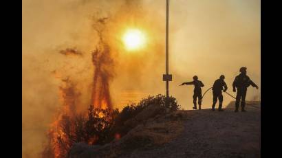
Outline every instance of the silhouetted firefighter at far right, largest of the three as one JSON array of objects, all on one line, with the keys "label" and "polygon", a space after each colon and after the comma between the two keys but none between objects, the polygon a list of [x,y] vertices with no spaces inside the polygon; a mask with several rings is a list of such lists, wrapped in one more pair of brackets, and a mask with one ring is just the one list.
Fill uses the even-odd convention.
[{"label": "silhouetted firefighter at far right, largest of the three", "polygon": [[246,104],[245,99],[246,99],[247,89],[250,85],[252,85],[252,87],[256,87],[257,89],[259,89],[257,84],[254,84],[254,82],[250,80],[249,76],[247,76],[246,67],[241,67],[240,72],[241,74],[236,76],[232,84],[234,92],[236,92],[235,87],[237,88],[235,112],[238,112],[240,100],[241,100],[241,111],[245,111],[245,104]]}]

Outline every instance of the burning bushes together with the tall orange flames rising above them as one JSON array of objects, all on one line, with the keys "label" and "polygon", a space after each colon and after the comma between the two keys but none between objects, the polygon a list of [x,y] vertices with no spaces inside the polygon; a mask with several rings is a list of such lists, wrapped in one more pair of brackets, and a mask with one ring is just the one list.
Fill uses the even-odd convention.
[{"label": "burning bushes together with the tall orange flames rising above them", "polygon": [[[58,74],[57,71],[54,71],[56,78],[61,79],[59,95],[62,106],[54,122],[50,125],[42,157],[67,157],[69,150],[78,142],[104,145],[113,139],[120,139],[137,124],[132,122],[132,118],[150,105],[159,107],[158,114],[165,113],[167,109],[175,111],[179,107],[175,98],[171,97],[169,105],[166,106],[164,95],[156,95],[143,99],[138,104],[125,106],[122,111],[113,109],[109,83],[114,77],[114,60],[111,45],[107,41],[106,25],[108,20],[108,18],[94,20],[94,30],[97,33],[98,42],[91,52],[94,73],[89,91],[91,97],[88,109],[78,112],[79,107],[83,106],[78,100],[80,90],[78,90],[77,84],[79,82],[75,82],[70,76],[63,78],[64,74]],[[59,53],[65,58],[84,56],[82,52],[74,48],[63,49]]]}]

